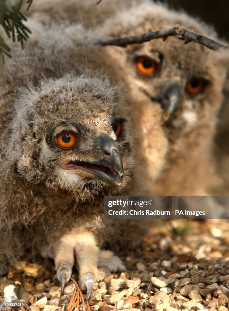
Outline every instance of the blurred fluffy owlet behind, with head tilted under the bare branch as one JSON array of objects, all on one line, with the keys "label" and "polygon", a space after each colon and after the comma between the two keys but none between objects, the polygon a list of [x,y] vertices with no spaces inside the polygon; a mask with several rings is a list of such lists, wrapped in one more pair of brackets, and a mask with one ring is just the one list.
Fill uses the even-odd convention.
[{"label": "blurred fluffy owlet behind, with head tilted under the bare branch", "polygon": [[[141,35],[179,24],[218,40],[197,19],[150,0],[103,0],[95,7],[72,0],[55,8],[41,1],[40,8],[34,2],[31,9],[40,16],[45,12],[44,22],[81,20],[91,26],[92,39]],[[74,25],[68,35],[74,38]],[[92,51],[89,67],[102,67],[112,80],[122,80],[130,96],[138,140],[134,175],[148,187],[141,194],[207,194],[216,181],[212,145],[227,71],[224,56],[194,42],[184,45],[177,37]]]}]

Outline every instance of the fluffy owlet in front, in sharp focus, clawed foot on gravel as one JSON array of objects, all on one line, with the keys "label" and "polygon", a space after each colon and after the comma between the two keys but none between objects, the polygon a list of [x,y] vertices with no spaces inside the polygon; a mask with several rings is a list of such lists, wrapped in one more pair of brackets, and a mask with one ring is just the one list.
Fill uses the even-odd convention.
[{"label": "fluffy owlet in front, in sharp focus, clawed foot on gravel", "polygon": [[118,86],[80,67],[83,44],[77,50],[57,27],[30,27],[25,49],[13,46],[0,68],[0,261],[42,250],[63,290],[75,255],[89,296],[99,264],[123,267],[99,247],[112,229],[103,195],[132,187],[129,104]]}]

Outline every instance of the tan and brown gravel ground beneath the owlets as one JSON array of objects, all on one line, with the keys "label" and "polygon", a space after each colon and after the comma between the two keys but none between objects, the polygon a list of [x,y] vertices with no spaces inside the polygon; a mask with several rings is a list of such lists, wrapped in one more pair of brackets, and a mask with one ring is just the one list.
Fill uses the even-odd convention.
[{"label": "tan and brown gravel ground beneath the owlets", "polygon": [[[156,220],[141,247],[122,257],[128,271],[114,274],[100,268],[100,280],[94,284],[89,308],[227,311],[228,245],[227,220]],[[73,278],[77,280],[76,271]],[[70,281],[60,298],[53,262],[36,258],[33,262],[18,262],[6,276],[0,277],[0,304],[4,290],[14,290],[13,294],[26,303],[26,308],[17,310],[64,311],[68,309],[74,284]]]}]

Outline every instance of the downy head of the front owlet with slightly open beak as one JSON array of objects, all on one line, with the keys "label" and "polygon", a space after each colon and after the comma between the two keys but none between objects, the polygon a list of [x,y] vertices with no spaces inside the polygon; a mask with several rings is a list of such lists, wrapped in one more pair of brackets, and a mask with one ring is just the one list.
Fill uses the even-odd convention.
[{"label": "downy head of the front owlet with slightly open beak", "polygon": [[22,182],[83,199],[126,185],[132,165],[128,104],[104,80],[66,75],[22,91],[8,152]]}]

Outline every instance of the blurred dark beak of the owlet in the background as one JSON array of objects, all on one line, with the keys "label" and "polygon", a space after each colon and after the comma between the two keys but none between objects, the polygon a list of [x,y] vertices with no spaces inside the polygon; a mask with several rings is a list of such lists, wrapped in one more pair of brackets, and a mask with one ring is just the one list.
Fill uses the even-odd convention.
[{"label": "blurred dark beak of the owlet in the background", "polygon": [[169,117],[174,113],[177,108],[177,103],[180,99],[180,86],[178,84],[170,85],[164,93],[161,101],[161,106],[165,110],[163,114],[164,121],[167,121]]}]

